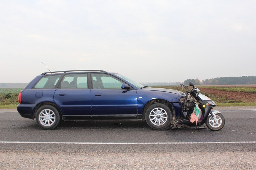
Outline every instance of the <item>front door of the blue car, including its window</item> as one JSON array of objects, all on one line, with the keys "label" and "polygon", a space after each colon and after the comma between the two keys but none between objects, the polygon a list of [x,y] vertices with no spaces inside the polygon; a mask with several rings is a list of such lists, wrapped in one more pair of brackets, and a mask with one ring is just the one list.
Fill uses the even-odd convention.
[{"label": "front door of the blue car, including its window", "polygon": [[137,92],[121,89],[125,82],[104,73],[91,73],[92,113],[94,116],[136,116]]}]

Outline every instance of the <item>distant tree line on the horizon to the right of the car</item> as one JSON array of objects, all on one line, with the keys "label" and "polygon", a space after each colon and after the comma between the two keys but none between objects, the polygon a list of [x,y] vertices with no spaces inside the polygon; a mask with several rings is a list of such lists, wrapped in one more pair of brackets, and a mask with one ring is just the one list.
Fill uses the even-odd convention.
[{"label": "distant tree line on the horizon to the right of the car", "polygon": [[199,79],[187,79],[184,81],[184,84],[188,85],[190,81],[193,82],[195,85],[256,84],[256,76],[216,77],[216,78],[206,79],[203,81],[200,81]]}]

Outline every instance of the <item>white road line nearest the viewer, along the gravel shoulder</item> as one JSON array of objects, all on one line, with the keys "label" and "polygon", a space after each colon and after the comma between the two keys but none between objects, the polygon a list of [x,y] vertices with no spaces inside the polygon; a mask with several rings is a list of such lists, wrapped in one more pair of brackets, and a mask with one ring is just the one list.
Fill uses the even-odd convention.
[{"label": "white road line nearest the viewer, along the gravel shoulder", "polygon": [[223,143],[256,143],[256,141],[241,142],[31,142],[31,141],[0,141],[0,143],[32,143],[32,144],[223,144]]}]

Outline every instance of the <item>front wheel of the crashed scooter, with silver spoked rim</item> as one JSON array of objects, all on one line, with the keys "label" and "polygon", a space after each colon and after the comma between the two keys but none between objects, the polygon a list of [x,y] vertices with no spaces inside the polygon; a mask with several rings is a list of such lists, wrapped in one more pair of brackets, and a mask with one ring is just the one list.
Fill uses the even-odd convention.
[{"label": "front wheel of the crashed scooter, with silver spoked rim", "polygon": [[210,116],[208,116],[205,124],[206,124],[207,128],[209,128],[213,131],[217,131],[224,127],[225,118],[222,114],[218,113],[218,114],[216,114],[216,121],[214,121],[214,118],[210,115]]}]

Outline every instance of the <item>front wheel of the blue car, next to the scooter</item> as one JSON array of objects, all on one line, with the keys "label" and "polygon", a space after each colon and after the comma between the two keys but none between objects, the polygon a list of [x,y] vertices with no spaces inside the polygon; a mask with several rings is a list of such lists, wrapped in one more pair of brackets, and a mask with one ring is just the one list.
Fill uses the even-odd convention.
[{"label": "front wheel of the blue car, next to the scooter", "polygon": [[[162,110],[160,114],[159,114],[160,112],[159,110],[160,111]],[[158,113],[155,114],[157,111]],[[164,114],[164,115],[161,116],[161,114]],[[168,106],[161,103],[156,103],[149,106],[148,109],[146,110],[145,120],[150,128],[153,128],[156,130],[167,130],[167,129],[170,129],[171,127],[172,113],[171,113],[171,110],[168,108]]]}]

